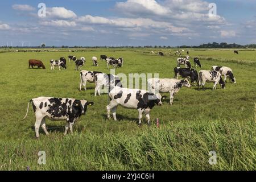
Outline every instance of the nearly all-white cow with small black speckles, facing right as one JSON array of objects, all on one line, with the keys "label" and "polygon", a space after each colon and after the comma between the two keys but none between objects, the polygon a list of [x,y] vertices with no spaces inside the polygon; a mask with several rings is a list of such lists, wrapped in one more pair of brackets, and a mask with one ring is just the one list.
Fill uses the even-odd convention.
[{"label": "nearly all-white cow with small black speckles, facing right", "polygon": [[191,87],[187,78],[184,80],[177,80],[175,78],[150,78],[147,80],[147,85],[150,93],[170,93],[170,105],[174,102],[174,94],[179,92],[183,86]]}]

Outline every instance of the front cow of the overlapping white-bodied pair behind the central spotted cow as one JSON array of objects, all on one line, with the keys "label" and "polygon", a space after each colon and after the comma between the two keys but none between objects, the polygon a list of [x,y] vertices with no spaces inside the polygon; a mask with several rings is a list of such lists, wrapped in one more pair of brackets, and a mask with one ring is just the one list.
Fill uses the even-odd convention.
[{"label": "front cow of the overlapping white-bodied pair behind the central spotted cow", "polygon": [[94,76],[96,81],[94,96],[97,96],[97,93],[99,96],[101,96],[100,89],[103,87],[109,88],[108,93],[110,92],[111,86],[119,86],[121,88],[123,87],[120,78],[116,75],[110,75],[106,73],[96,73]]}]

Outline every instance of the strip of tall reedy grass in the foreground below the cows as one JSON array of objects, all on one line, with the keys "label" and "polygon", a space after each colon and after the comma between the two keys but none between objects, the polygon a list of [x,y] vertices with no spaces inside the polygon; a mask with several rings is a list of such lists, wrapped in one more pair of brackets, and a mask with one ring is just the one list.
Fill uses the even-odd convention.
[{"label": "strip of tall reedy grass in the foreground below the cows", "polygon": [[[183,121],[126,133],[1,141],[0,170],[255,170],[254,118]],[[38,151],[46,151],[40,166]],[[209,151],[217,152],[210,165]]]}]

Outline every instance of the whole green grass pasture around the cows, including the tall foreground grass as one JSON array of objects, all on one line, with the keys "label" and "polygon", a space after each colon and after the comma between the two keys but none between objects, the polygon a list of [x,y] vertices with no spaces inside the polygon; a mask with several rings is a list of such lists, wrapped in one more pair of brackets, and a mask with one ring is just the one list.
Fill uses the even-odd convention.
[{"label": "whole green grass pasture around the cows, including the tall foreground grass", "polygon": [[[150,50],[151,51],[151,50]],[[83,69],[109,73],[104,61],[92,67],[92,56],[123,57],[117,73],[159,73],[174,77],[176,58],[160,57],[148,49],[91,49],[85,52],[0,53],[0,170],[255,170],[256,137],[256,51],[190,50],[191,60],[201,58],[202,69],[222,65],[233,69],[237,84],[228,81],[226,89],[198,91],[182,88],[174,105],[155,106],[151,126],[144,119],[138,127],[138,111],[117,109],[118,122],[106,119],[108,96],[94,97],[94,84],[79,92],[79,72],[73,63],[68,69],[51,71],[50,59],[86,57]],[[170,50],[163,50],[170,52]],[[174,51],[172,51],[174,52]],[[42,60],[47,69],[28,69],[28,59]],[[200,69],[197,69],[199,71]],[[168,96],[168,94],[163,94]],[[50,135],[40,130],[35,139],[35,115],[27,102],[39,96],[70,97],[93,101],[75,125],[75,133],[64,137],[65,122],[46,121]],[[159,118],[160,128],[155,126]],[[39,165],[38,152],[46,151],[46,165]],[[209,151],[217,152],[217,164],[210,165]]]}]

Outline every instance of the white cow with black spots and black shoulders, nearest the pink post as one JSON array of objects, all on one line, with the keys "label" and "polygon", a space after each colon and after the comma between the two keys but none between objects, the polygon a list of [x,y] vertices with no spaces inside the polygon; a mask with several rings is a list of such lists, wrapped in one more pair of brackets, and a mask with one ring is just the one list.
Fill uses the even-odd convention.
[{"label": "white cow with black spots and black shoulders, nearest the pink post", "polygon": [[121,105],[128,109],[137,109],[139,112],[139,125],[141,125],[142,114],[146,114],[147,123],[150,125],[150,110],[156,105],[162,105],[160,94],[148,93],[146,90],[127,89],[114,87],[109,92],[110,104],[106,106],[108,118],[112,110],[114,121],[117,121],[117,106]]}]

